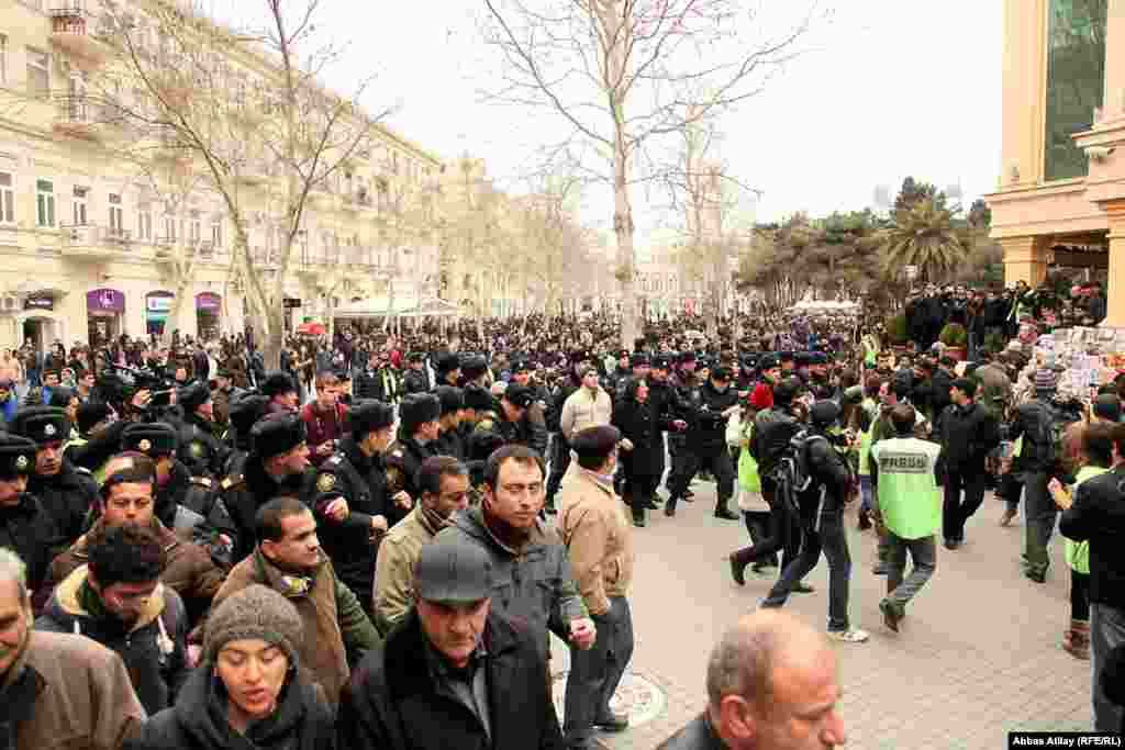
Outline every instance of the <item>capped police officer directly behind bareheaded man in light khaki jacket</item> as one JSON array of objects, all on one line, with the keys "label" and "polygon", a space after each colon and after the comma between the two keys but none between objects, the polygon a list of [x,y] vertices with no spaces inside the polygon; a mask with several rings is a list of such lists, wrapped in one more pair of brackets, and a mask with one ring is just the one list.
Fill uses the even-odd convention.
[{"label": "capped police officer directly behind bareheaded man in light khaki jacket", "polygon": [[398,435],[384,455],[387,464],[387,491],[392,497],[398,498],[395,506],[388,508],[390,525],[398,523],[410,512],[410,505],[402,501],[399,493],[405,493],[412,500],[421,497],[416,484],[417,472],[423,461],[438,455],[441,401],[433,394],[413,394],[403,399],[398,416]]}]

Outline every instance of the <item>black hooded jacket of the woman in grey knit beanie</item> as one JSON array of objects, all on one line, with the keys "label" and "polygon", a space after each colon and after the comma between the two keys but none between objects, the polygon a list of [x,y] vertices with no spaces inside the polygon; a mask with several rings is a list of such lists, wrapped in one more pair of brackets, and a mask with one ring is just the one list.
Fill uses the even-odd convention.
[{"label": "black hooded jacket of the woman in grey knit beanie", "polygon": [[150,719],[125,750],[334,750],[335,728],[324,692],[296,675],[281,689],[273,713],[240,734],[227,722],[226,690],[215,665],[205,662],[184,683],[176,706]]}]

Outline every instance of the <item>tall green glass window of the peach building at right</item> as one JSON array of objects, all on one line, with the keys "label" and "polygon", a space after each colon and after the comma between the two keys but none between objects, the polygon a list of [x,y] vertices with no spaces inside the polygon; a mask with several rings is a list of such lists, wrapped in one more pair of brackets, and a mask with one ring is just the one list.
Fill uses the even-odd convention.
[{"label": "tall green glass window of the peach building at right", "polygon": [[1086,154],[1071,137],[1089,130],[1106,85],[1107,0],[1051,0],[1047,21],[1044,178],[1087,174]]}]

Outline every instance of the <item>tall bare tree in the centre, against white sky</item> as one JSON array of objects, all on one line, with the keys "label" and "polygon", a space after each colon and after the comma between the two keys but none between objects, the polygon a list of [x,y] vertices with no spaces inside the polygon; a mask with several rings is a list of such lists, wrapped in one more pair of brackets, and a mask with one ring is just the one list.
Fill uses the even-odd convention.
[{"label": "tall bare tree in the centre, against white sky", "polygon": [[[613,188],[622,344],[638,333],[632,188],[659,172],[657,142],[763,90],[796,54],[813,11],[774,38],[749,38],[742,0],[485,0],[504,62],[496,101],[562,118],[592,178]],[[575,153],[572,151],[570,153]],[[592,159],[593,157],[593,159]]]}]

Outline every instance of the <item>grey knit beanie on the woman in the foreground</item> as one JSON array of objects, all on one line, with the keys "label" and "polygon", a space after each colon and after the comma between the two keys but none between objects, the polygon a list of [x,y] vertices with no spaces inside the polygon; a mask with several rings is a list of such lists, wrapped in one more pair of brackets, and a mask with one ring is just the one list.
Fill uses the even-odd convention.
[{"label": "grey knit beanie on the woman in the foreground", "polygon": [[284,596],[260,584],[248,586],[216,606],[207,618],[204,658],[215,663],[231,641],[260,639],[280,647],[297,667],[297,648],[304,639],[300,615]]}]

